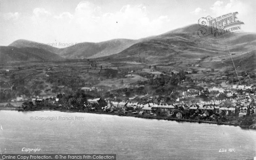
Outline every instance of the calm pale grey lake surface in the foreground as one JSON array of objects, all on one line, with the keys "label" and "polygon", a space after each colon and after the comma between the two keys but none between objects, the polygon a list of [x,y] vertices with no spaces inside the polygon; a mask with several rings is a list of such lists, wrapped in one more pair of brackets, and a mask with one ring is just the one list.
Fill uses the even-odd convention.
[{"label": "calm pale grey lake surface in the foreground", "polygon": [[[117,160],[247,160],[256,151],[256,131],[235,126],[59,111],[0,111],[0,125],[5,154],[26,154],[25,147]],[[229,148],[235,151],[219,152]]]}]

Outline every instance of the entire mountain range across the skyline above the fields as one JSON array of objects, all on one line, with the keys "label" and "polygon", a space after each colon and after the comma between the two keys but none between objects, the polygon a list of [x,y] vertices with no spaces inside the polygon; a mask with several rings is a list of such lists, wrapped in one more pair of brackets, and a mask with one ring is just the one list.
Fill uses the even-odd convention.
[{"label": "entire mountain range across the skyline above the fields", "polygon": [[[209,64],[215,66],[220,61],[227,63],[225,61],[229,61],[229,54],[250,58],[244,56],[244,53],[253,54],[256,50],[256,33],[234,32],[217,39],[212,35],[201,38],[198,36],[199,28],[201,27],[198,24],[192,24],[139,40],[84,42],[66,48],[40,46],[37,42],[17,40],[8,47],[1,47],[0,52],[9,61],[12,58],[14,61],[95,58],[102,61],[137,61],[180,68],[195,63],[201,63],[204,67],[210,67]],[[15,52],[10,47],[14,47],[11,49]],[[12,56],[17,53],[20,55]]]}]

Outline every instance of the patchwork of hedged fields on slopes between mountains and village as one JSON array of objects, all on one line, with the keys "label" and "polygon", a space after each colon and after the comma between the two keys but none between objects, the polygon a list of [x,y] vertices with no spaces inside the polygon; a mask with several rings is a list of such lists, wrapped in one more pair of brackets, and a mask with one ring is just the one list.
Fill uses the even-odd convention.
[{"label": "patchwork of hedged fields on slopes between mountains and village", "polygon": [[[254,53],[246,54],[244,59],[239,61],[240,56],[239,54],[233,57],[236,64],[242,63],[240,69],[238,67],[239,76],[243,72],[241,69],[246,65],[246,59],[255,61]],[[212,87],[223,81],[229,83],[230,79],[236,76],[230,56],[223,56],[222,61],[209,61],[208,58],[181,60],[172,59],[168,63],[157,64],[143,61],[106,61],[99,58],[2,65],[0,101],[10,101],[20,95],[47,97],[58,93],[73,93],[82,87],[97,87],[101,90],[99,94],[104,95],[111,90],[135,87],[138,82],[148,80],[148,75],[172,76],[173,72],[181,70],[194,81],[191,84],[184,83],[182,87]],[[146,92],[152,93],[154,90]]]}]

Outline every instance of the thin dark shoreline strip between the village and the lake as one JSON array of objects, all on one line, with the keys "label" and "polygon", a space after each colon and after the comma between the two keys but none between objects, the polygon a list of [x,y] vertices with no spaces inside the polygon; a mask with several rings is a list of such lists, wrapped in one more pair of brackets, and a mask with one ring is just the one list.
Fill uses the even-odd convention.
[{"label": "thin dark shoreline strip between the village and the lake", "polygon": [[[0,108],[0,111],[18,111],[18,112],[27,112],[21,111],[18,108]],[[28,110],[31,111],[31,110]],[[157,119],[157,120],[168,120],[168,121],[176,121],[176,122],[192,122],[192,123],[207,123],[207,124],[216,124],[216,125],[231,125],[231,126],[239,126],[242,129],[253,129],[249,128],[250,126],[241,126],[236,123],[230,122],[215,122],[215,121],[205,121],[205,120],[196,120],[196,119],[178,119],[173,117],[161,117],[161,116],[140,116],[137,114],[126,114],[120,115],[119,113],[105,113],[105,112],[87,112],[87,111],[79,111],[79,110],[51,110],[51,109],[41,109],[35,111],[60,111],[60,112],[70,112],[70,113],[92,113],[92,114],[107,114],[113,116],[130,116],[136,118],[143,118],[143,119]],[[254,130],[254,129],[253,129]]]}]

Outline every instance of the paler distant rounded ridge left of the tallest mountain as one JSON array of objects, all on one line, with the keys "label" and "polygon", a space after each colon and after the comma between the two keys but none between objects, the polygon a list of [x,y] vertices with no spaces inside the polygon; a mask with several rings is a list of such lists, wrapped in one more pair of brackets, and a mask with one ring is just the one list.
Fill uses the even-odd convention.
[{"label": "paler distant rounded ridge left of the tallest mountain", "polygon": [[137,42],[137,40],[130,39],[113,39],[99,43],[84,42],[66,48],[56,48],[42,43],[20,39],[14,41],[12,44],[9,44],[9,46],[17,48],[27,47],[44,49],[49,52],[58,54],[63,58],[81,59],[98,58],[102,56],[117,54]]}]

